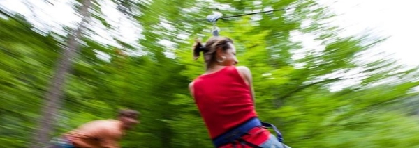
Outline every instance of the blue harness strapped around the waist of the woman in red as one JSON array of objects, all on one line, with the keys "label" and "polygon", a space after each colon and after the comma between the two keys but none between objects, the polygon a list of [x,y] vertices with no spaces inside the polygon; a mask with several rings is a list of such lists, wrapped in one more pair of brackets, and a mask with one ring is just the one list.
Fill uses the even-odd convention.
[{"label": "blue harness strapped around the waist of the woman in red", "polygon": [[265,126],[265,127],[274,129],[275,133],[277,133],[277,138],[279,142],[284,141],[284,138],[282,138],[282,134],[281,132],[279,132],[277,127],[275,127],[274,125],[270,123],[260,122],[258,117],[253,117],[250,120],[247,120],[247,122],[240,124],[240,126],[237,126],[234,129],[231,129],[230,131],[227,131],[226,133],[223,133],[217,136],[216,138],[212,140],[212,143],[214,143],[215,147],[220,147],[228,143],[239,141],[247,145],[251,145],[252,147],[258,147],[256,145],[252,145],[250,142],[246,142],[242,140],[241,138],[244,134],[247,134],[248,131],[250,131],[251,129],[257,126]]}]

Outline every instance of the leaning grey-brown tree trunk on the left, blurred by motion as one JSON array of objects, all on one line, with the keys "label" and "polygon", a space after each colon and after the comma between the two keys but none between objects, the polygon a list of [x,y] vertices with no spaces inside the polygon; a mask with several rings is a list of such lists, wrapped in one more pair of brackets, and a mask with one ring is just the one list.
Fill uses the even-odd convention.
[{"label": "leaning grey-brown tree trunk on the left, blurred by motion", "polygon": [[69,35],[67,47],[62,49],[61,58],[59,58],[57,67],[52,77],[50,88],[45,94],[45,103],[41,108],[41,118],[38,121],[38,129],[34,133],[34,142],[30,147],[42,148],[45,147],[50,141],[50,133],[53,131],[54,122],[56,122],[56,116],[61,107],[62,99],[64,94],[64,84],[66,82],[66,74],[72,68],[72,60],[80,52],[78,40],[82,37],[84,32],[84,26],[88,23],[90,13],[89,7],[91,6],[91,0],[84,0],[82,7],[80,8],[80,15],[82,16],[82,22],[78,25],[78,28]]}]

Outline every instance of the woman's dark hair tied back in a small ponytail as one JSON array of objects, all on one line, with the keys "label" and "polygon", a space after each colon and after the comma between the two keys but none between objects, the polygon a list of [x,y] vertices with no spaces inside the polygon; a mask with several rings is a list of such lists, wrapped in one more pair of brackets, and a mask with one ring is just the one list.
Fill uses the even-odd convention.
[{"label": "woman's dark hair tied back in a small ponytail", "polygon": [[207,40],[207,43],[203,44],[199,40],[195,40],[193,45],[193,59],[196,60],[200,56],[200,52],[203,52],[205,63],[207,68],[216,60],[216,49],[221,47],[223,51],[230,49],[229,42],[233,44],[233,40],[227,37],[215,36]]}]

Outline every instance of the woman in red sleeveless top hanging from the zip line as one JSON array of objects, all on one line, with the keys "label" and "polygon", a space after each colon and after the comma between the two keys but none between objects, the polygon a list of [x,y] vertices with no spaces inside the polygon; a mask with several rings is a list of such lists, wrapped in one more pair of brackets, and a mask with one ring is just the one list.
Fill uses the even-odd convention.
[{"label": "woman in red sleeveless top hanging from the zip line", "polygon": [[203,52],[207,70],[189,84],[216,147],[284,148],[258,120],[249,68],[235,67],[233,40],[212,37],[193,46],[194,59]]}]

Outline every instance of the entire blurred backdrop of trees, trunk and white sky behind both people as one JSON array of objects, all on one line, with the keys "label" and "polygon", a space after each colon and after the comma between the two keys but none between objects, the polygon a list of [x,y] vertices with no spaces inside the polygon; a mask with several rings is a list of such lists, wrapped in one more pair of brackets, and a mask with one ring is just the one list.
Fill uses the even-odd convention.
[{"label": "entire blurred backdrop of trees, trunk and white sky behind both people", "polygon": [[291,147],[419,147],[418,1],[0,0],[0,147],[142,113],[122,147],[213,147],[187,85],[207,15]]}]

